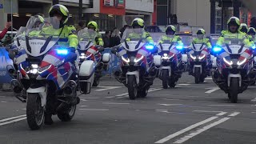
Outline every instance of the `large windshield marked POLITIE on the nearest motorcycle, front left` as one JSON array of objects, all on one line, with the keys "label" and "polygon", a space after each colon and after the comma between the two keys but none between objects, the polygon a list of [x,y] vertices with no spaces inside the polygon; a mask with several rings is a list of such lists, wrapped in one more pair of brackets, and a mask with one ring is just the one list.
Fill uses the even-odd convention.
[{"label": "large windshield marked POLITIE on the nearest motorcycle, front left", "polygon": [[59,28],[59,21],[55,17],[44,18],[43,21],[40,18],[31,17],[25,29],[16,38],[21,39],[20,46],[26,50],[26,54],[39,57],[58,43],[63,28]]}]

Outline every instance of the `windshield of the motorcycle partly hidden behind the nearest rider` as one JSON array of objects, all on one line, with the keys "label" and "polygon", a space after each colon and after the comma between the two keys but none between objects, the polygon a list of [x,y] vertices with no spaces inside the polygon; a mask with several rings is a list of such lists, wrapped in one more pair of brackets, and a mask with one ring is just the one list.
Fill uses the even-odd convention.
[{"label": "windshield of the motorcycle partly hidden behind the nearest rider", "polygon": [[90,29],[83,29],[78,32],[79,50],[88,50],[91,46],[94,46],[97,32]]}]

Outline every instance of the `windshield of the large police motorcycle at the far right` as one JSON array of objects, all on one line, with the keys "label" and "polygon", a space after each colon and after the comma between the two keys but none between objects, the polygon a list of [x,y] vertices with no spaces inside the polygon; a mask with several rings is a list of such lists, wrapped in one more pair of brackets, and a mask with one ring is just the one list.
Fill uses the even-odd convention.
[{"label": "windshield of the large police motorcycle at the far right", "polygon": [[242,54],[247,49],[244,40],[245,38],[225,38],[223,48],[229,54]]}]

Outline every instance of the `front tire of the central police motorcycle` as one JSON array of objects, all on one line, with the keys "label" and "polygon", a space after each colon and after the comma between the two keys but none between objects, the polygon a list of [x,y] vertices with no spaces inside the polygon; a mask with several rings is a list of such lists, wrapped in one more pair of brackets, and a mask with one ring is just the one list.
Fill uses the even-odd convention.
[{"label": "front tire of the central police motorcycle", "polygon": [[128,75],[128,94],[131,100],[134,100],[138,94],[137,82],[134,75]]}]

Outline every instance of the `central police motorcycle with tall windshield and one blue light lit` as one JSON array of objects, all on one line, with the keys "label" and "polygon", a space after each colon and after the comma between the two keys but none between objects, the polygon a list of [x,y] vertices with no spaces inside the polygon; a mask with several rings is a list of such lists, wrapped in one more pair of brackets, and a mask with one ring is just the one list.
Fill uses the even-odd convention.
[{"label": "central police motorcycle with tall windshield and one blue light lit", "polygon": [[[114,70],[114,76],[128,88],[130,99],[145,98],[157,73],[151,55],[155,47],[140,37],[143,32],[144,29],[127,28],[122,35],[120,46],[111,50],[118,56],[120,66]],[[130,35],[139,37],[130,38]]]}]

